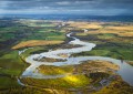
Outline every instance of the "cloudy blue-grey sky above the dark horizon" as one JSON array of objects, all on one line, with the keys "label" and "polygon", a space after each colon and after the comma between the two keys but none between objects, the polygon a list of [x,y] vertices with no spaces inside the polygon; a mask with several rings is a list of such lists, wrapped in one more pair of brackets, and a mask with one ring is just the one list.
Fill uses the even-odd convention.
[{"label": "cloudy blue-grey sky above the dark horizon", "polygon": [[0,14],[133,15],[133,0],[0,0]]}]

